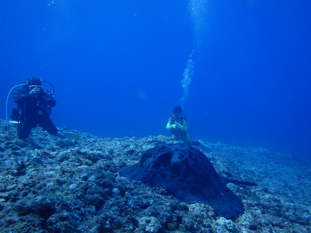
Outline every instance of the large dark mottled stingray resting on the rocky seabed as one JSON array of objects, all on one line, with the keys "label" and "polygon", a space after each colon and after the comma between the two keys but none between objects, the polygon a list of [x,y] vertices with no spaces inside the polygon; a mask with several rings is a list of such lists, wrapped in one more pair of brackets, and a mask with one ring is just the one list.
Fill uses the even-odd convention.
[{"label": "large dark mottled stingray resting on the rocky seabed", "polygon": [[216,214],[227,219],[244,213],[244,206],[225,183],[256,185],[218,175],[200,150],[183,143],[164,144],[143,151],[139,163],[123,167],[118,173],[150,187],[163,186],[181,202],[210,205]]}]

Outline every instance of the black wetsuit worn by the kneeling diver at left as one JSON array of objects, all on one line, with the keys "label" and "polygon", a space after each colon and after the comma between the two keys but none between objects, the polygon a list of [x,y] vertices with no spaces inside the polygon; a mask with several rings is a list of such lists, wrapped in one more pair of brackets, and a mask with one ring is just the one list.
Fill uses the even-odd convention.
[{"label": "black wetsuit worn by the kneeling diver at left", "polygon": [[[47,90],[41,90],[38,97],[30,96],[29,85],[15,91],[14,101],[17,103],[17,112],[19,113],[18,137],[26,139],[32,128],[37,125],[48,131],[52,135],[57,134],[57,128],[50,119],[51,107],[56,105],[52,94]],[[44,96],[49,96],[49,101]]]}]

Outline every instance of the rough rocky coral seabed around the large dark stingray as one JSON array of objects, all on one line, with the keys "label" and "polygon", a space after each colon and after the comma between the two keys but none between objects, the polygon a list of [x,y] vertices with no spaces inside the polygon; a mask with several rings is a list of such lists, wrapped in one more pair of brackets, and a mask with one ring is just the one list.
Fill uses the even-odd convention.
[{"label": "rough rocky coral seabed around the large dark stingray", "polygon": [[208,205],[118,177],[142,151],[176,143],[170,137],[81,133],[77,141],[34,129],[19,140],[14,126],[7,132],[0,120],[0,128],[0,232],[310,232],[311,166],[296,156],[203,140],[217,173],[258,184],[227,184],[245,208],[230,222]]}]

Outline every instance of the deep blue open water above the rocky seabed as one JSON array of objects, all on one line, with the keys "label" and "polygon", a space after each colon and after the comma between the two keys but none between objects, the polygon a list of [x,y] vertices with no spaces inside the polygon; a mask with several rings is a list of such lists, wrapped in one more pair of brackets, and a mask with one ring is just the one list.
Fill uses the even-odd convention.
[{"label": "deep blue open water above the rocky seabed", "polygon": [[[310,1],[1,1],[1,93],[37,76],[58,127],[170,135],[310,158]],[[9,98],[9,115],[14,102]],[[190,122],[188,122],[190,128]]]}]

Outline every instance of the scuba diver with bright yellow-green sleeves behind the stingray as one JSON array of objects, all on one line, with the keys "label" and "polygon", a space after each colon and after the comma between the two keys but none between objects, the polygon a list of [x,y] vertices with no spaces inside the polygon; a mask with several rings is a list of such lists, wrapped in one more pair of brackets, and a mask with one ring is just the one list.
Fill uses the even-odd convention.
[{"label": "scuba diver with bright yellow-green sleeves behind the stingray", "polygon": [[177,141],[182,139],[187,145],[190,145],[191,140],[187,132],[186,117],[182,115],[182,111],[183,109],[181,106],[173,109],[172,117],[167,124],[167,129],[171,130],[172,138]]}]

